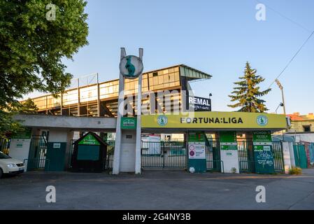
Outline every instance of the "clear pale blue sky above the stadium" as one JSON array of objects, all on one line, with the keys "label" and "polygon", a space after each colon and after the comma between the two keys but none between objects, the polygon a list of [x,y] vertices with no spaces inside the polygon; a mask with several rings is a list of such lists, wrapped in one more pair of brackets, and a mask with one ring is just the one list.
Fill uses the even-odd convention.
[{"label": "clear pale blue sky above the stadium", "polygon": [[[258,3],[266,5],[265,21],[255,18]],[[186,64],[210,73],[191,86],[196,96],[213,94],[213,111],[234,111],[228,94],[245,62],[265,78],[264,90],[314,30],[313,0],[89,0],[85,12],[90,44],[64,60],[74,78],[95,72],[100,81],[118,78],[120,48],[127,55],[143,48],[144,71]],[[287,113],[314,112],[313,59],[314,36],[279,78]],[[270,113],[282,102],[276,83],[271,87],[263,97]]]}]

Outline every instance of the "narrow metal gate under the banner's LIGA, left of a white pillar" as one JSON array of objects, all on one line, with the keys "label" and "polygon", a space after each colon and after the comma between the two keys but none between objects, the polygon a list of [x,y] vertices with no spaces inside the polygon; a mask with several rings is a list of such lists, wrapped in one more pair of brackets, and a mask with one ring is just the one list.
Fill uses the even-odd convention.
[{"label": "narrow metal gate under the banner's LIGA, left of a white pillar", "polygon": [[206,167],[209,171],[221,172],[223,164],[220,160],[219,141],[206,142]]}]

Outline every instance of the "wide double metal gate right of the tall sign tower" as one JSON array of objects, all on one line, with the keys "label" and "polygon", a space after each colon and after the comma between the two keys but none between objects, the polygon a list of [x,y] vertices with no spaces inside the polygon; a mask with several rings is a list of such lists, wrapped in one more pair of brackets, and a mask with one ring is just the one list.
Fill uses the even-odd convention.
[{"label": "wide double metal gate right of the tall sign tower", "polygon": [[187,167],[185,141],[142,141],[142,168]]}]

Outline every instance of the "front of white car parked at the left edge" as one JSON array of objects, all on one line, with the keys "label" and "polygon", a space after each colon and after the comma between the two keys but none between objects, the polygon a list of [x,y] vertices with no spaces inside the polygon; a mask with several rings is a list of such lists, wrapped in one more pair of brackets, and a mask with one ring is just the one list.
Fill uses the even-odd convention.
[{"label": "front of white car parked at the left edge", "polygon": [[0,151],[0,178],[3,174],[22,174],[24,169],[22,161],[10,158]]}]

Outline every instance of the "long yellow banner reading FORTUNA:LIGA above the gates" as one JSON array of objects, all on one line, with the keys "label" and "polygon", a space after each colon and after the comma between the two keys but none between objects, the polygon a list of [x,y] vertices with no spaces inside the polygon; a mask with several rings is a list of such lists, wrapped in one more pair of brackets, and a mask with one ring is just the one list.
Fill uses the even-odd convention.
[{"label": "long yellow banner reading FORTUNA:LIGA above the gates", "polygon": [[287,128],[284,115],[246,112],[194,112],[179,115],[141,116],[142,128],[280,129]]}]

